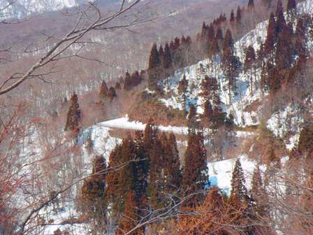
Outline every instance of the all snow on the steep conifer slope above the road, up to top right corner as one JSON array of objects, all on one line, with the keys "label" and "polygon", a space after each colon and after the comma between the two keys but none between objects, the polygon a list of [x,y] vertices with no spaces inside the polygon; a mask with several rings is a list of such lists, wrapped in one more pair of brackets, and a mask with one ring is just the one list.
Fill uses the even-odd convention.
[{"label": "all snow on the steep conifer slope above the road, up to top right corner", "polygon": [[[299,13],[312,13],[312,6],[313,1],[311,0],[299,3]],[[252,29],[252,31],[249,31],[245,36],[240,38],[240,40],[235,42],[235,55],[239,57],[242,64],[245,62],[245,49],[248,48],[249,45],[252,45],[254,50],[257,51],[259,50],[261,44],[265,42],[267,27],[268,20],[261,22],[256,25],[255,29]],[[312,41],[307,41],[307,49],[309,52],[312,52],[312,43]],[[249,77],[243,69],[241,69],[241,72],[236,78],[237,89],[231,100],[228,97],[228,84],[221,69],[221,58],[219,56],[203,59],[203,61],[198,62],[197,64],[187,66],[183,69],[178,69],[175,71],[173,76],[168,78],[169,87],[166,87],[167,81],[163,84],[166,87],[164,89],[166,96],[161,98],[160,101],[162,101],[166,106],[182,110],[182,102],[180,101],[177,87],[179,81],[184,75],[189,82],[187,90],[187,106],[194,104],[197,106],[198,113],[203,113],[203,99],[200,95],[201,82],[205,76],[212,76],[218,80],[219,96],[223,103],[224,111],[228,113],[228,115],[232,114],[234,116],[235,124],[240,126],[259,124],[259,117],[261,116],[259,115],[259,112],[262,107],[254,106],[254,104],[265,99],[266,94],[263,96],[258,85],[252,87],[252,90],[249,89]],[[255,76],[256,80],[260,80],[260,68],[256,69]],[[252,106],[254,106],[254,108],[252,108]]]}]

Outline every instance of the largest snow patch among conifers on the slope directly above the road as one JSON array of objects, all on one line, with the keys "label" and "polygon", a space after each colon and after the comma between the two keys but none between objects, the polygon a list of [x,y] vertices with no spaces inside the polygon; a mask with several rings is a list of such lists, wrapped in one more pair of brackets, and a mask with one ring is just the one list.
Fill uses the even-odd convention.
[{"label": "largest snow patch among conifers on the slope directly above the road", "polygon": [[[238,52],[239,53],[239,52]],[[256,101],[261,98],[261,91],[255,90],[253,94],[249,93],[248,90],[248,79],[245,73],[240,73],[238,77],[238,90],[237,95],[233,97],[232,101],[229,101],[228,93],[226,90],[226,80],[224,74],[221,71],[219,64],[220,58],[216,57],[215,61],[212,59],[204,59],[197,64],[191,65],[179,71],[175,71],[175,75],[169,78],[170,80],[170,89],[166,90],[166,93],[171,92],[174,96],[168,99],[160,99],[166,106],[172,106],[173,108],[180,108],[182,110],[180,98],[178,95],[177,85],[182,78],[186,76],[186,79],[189,81],[188,88],[188,104],[194,104],[197,106],[198,113],[203,113],[203,99],[201,99],[201,82],[205,75],[214,76],[218,78],[220,99],[224,104],[224,111],[229,114],[233,114],[235,118],[235,123],[239,125],[253,125],[258,124],[258,114],[256,111],[246,112],[245,108],[252,104],[253,101]],[[212,64],[216,64],[212,66]],[[261,71],[257,71],[257,76],[260,76]],[[190,87],[197,87],[196,89],[191,90]],[[187,105],[188,105],[187,104]]]}]

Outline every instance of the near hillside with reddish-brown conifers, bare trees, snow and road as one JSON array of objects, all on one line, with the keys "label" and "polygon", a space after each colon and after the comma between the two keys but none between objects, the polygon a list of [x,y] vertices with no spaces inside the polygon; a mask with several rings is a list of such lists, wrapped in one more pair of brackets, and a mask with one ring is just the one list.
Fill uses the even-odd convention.
[{"label": "near hillside with reddish-brown conifers, bare trees, snow and road", "polygon": [[1,235],[313,234],[313,1],[208,19],[46,113],[6,94]]}]

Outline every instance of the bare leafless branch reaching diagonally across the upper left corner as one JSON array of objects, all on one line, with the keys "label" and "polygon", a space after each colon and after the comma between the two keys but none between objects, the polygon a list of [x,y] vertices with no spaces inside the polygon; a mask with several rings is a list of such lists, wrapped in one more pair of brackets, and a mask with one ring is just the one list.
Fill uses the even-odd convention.
[{"label": "bare leafless branch reaching diagonally across the upper left corner", "polygon": [[[41,55],[40,59],[34,62],[26,71],[14,71],[10,73],[7,78],[1,78],[2,84],[0,85],[0,94],[6,94],[15,89],[25,80],[38,78],[47,82],[45,76],[50,73],[56,73],[58,62],[63,59],[71,57],[78,57],[80,59],[94,60],[101,62],[96,58],[88,58],[82,55],[82,50],[85,45],[94,43],[89,41],[86,36],[92,31],[111,31],[114,29],[128,29],[152,20],[149,15],[143,14],[143,8],[136,8],[140,0],[128,3],[123,0],[116,11],[104,14],[94,2],[89,2],[82,6],[77,12],[68,14],[68,17],[76,19],[73,28],[68,31],[63,37],[59,38],[54,35],[44,34],[45,44],[42,46],[33,45],[24,46],[23,48],[16,49],[14,46],[0,50],[3,54],[14,53],[38,53]],[[3,8],[6,10],[12,4]],[[3,22],[4,23],[4,22]]]}]

